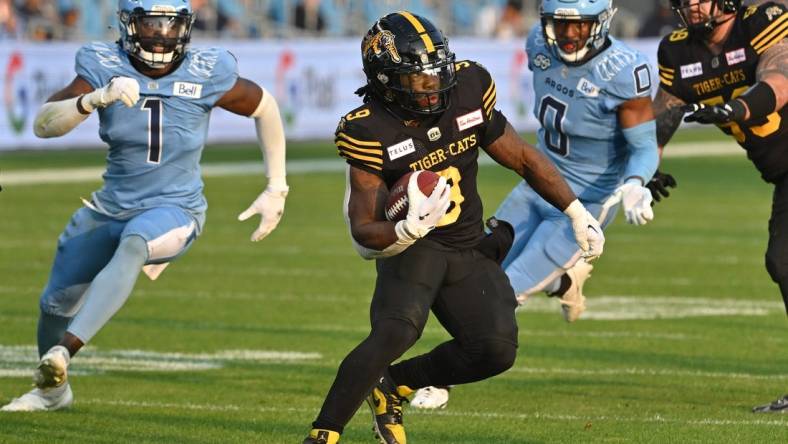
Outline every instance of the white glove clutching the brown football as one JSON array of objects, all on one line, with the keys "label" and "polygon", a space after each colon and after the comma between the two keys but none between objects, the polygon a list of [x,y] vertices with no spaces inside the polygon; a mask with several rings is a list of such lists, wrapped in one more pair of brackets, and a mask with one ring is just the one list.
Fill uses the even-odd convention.
[{"label": "white glove clutching the brown football", "polygon": [[432,231],[451,204],[451,184],[445,177],[438,179],[432,194],[426,197],[419,189],[419,174],[412,174],[408,180],[408,215],[394,226],[398,238],[413,242]]}]

